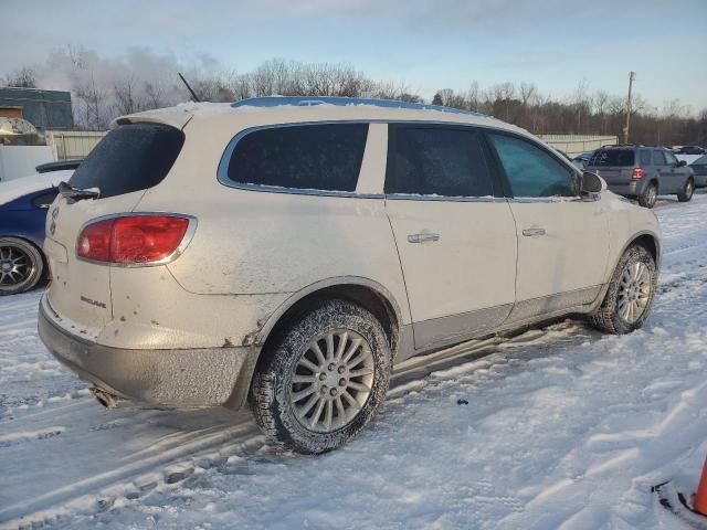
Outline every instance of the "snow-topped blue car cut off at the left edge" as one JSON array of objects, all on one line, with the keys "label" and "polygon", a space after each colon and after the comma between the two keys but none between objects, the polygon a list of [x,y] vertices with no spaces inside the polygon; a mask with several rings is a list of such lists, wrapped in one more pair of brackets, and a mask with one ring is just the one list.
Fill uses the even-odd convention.
[{"label": "snow-topped blue car cut off at the left edge", "polygon": [[42,252],[46,212],[78,163],[43,165],[40,174],[0,182],[0,296],[30,290],[49,276]]}]

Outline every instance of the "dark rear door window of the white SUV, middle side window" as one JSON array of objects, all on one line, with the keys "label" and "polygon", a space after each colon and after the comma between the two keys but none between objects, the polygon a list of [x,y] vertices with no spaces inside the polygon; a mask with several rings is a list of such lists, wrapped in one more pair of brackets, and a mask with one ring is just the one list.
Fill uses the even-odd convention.
[{"label": "dark rear door window of the white SUV, middle side window", "polygon": [[493,195],[481,135],[475,130],[389,126],[386,193]]}]

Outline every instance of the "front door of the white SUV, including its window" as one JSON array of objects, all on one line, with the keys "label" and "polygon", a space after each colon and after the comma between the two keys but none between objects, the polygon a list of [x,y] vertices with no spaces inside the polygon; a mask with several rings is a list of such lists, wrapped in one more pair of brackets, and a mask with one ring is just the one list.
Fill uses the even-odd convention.
[{"label": "front door of the white SUV, including its window", "polygon": [[516,304],[523,321],[593,301],[606,278],[609,223],[602,200],[578,194],[578,173],[541,144],[488,132],[516,222]]}]

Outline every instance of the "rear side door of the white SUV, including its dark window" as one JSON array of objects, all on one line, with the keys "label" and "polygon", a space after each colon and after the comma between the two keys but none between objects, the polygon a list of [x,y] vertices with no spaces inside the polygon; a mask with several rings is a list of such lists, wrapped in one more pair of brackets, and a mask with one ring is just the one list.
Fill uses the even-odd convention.
[{"label": "rear side door of the white SUV, including its dark window", "polygon": [[494,197],[489,151],[463,126],[389,126],[386,210],[415,349],[499,326],[515,301],[516,229]]}]

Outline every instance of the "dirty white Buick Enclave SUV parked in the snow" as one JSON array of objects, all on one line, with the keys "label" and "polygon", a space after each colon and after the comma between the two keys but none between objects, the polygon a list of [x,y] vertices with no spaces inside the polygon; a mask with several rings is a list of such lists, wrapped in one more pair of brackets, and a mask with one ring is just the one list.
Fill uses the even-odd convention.
[{"label": "dirty white Buick Enclave SUV parked in the snow", "polygon": [[48,215],[39,330],[104,404],[233,409],[335,448],[391,367],[567,314],[642,326],[661,240],[525,130],[266,97],[119,118]]}]

